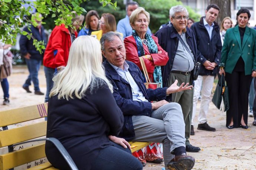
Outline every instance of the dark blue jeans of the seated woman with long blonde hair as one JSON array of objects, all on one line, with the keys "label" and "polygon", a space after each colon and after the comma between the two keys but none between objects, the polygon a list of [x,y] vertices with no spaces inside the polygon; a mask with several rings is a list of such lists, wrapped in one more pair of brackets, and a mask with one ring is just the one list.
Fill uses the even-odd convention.
[{"label": "dark blue jeans of the seated woman with long blonde hair", "polygon": [[131,150],[112,142],[115,146],[102,149],[92,164],[92,170],[142,170],[141,162]]}]

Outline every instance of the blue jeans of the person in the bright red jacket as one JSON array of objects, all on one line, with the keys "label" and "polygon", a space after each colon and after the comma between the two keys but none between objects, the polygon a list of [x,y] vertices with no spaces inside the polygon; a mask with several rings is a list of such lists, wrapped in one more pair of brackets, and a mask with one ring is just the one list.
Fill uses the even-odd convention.
[{"label": "blue jeans of the person in the bright red jacket", "polygon": [[48,102],[49,100],[49,94],[53,87],[53,81],[52,78],[55,74],[54,68],[44,67],[45,70],[45,78],[46,78],[46,95],[45,95],[45,102]]}]

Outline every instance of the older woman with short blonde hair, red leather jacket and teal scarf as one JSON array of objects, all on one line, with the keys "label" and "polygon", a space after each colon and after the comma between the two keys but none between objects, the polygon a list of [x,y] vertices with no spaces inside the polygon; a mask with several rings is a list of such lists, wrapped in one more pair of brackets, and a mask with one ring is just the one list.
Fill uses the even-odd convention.
[{"label": "older woman with short blonde hair, red leather jacket and teal scarf", "polygon": [[[167,63],[167,52],[158,44],[158,38],[147,34],[150,14],[139,7],[129,17],[132,35],[124,39],[126,59],[134,62],[142,70],[139,57],[142,57],[151,82],[162,83],[161,67]],[[144,75],[144,74],[142,74]],[[144,150],[144,153],[143,153]],[[145,149],[132,153],[143,166],[145,162],[163,162],[163,148],[160,143],[152,143]]]}]

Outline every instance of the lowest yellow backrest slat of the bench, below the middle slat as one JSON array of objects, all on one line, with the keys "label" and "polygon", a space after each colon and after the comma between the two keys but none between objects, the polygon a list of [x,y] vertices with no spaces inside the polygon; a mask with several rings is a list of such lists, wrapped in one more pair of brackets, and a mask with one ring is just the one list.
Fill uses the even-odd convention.
[{"label": "lowest yellow backrest slat of the bench, below the middle slat", "polygon": [[2,154],[0,155],[0,170],[20,166],[43,157],[46,157],[45,143]]}]

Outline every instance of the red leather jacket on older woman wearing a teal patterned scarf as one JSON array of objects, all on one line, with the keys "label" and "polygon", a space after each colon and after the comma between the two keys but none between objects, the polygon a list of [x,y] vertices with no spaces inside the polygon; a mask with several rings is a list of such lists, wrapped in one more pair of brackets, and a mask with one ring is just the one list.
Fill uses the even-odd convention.
[{"label": "red leather jacket on older woman wearing a teal patterned scarf", "polygon": [[[163,48],[158,44],[158,38],[155,36],[152,36],[152,38],[155,41],[155,44],[157,44],[158,51],[162,51],[162,53],[150,54],[148,47],[143,44],[145,55],[149,54],[153,58],[153,61],[143,58],[148,71],[148,76],[150,77],[151,81],[153,80],[153,72],[154,72],[155,66],[164,66],[169,60],[168,53],[164,51]],[[126,59],[128,61],[134,62],[136,65],[138,65],[138,67],[142,71],[140,59],[138,56],[137,45],[134,37],[132,35],[126,37],[124,39],[124,45],[126,50]]]}]

